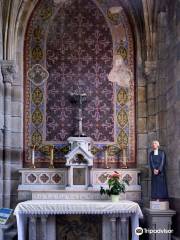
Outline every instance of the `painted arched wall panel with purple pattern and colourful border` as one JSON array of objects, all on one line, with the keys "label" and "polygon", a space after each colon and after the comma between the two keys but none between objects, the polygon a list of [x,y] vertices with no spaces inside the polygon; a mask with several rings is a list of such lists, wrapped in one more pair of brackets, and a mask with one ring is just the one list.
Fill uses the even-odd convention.
[{"label": "painted arched wall panel with purple pattern and colourful border", "polygon": [[[79,6],[78,11],[75,7],[77,4]],[[95,164],[98,166],[103,164],[104,155],[101,149],[104,145],[108,145],[110,146],[109,162],[111,166],[120,166],[122,161],[119,157],[117,146],[127,146],[128,164],[129,166],[135,165],[135,51],[132,30],[123,9],[120,9],[118,13],[112,13],[110,11],[114,6],[116,6],[117,9],[121,7],[120,3],[117,5],[117,2],[113,3],[113,1],[111,1],[111,3],[105,4],[104,1],[96,2],[89,0],[87,4],[89,5],[88,8],[86,8],[85,5],[82,7],[82,5],[83,1],[80,0],[65,1],[64,3],[63,1],[55,0],[39,1],[29,19],[24,44],[25,166],[28,166],[31,162],[29,151],[31,144],[39,146],[37,153],[39,166],[45,167],[48,163],[47,154],[50,144],[54,144],[56,147],[55,162],[57,166],[64,163],[63,154],[66,151],[65,140],[70,135],[68,131],[71,129],[71,125],[68,126],[68,129],[63,125],[62,111],[59,112],[58,104],[64,103],[64,105],[61,106],[65,109],[63,116],[67,115],[67,110],[69,110],[70,114],[72,114],[70,115],[71,118],[74,117],[66,90],[68,86],[71,88],[74,84],[73,80],[78,74],[79,77],[76,78],[76,83],[79,82],[80,85],[83,85],[87,94],[90,92],[89,102],[86,104],[84,111],[84,128],[95,140]],[[83,13],[82,9],[83,11],[86,9],[87,14]],[[88,12],[88,9],[91,9],[91,12]],[[69,14],[69,12],[71,12],[71,14]],[[63,34],[67,35],[65,32],[67,25],[65,25],[64,22],[67,21],[68,24],[68,14],[69,18],[73,16],[74,19],[77,19],[77,21],[71,22],[69,34],[76,35],[77,33],[80,34],[80,32],[83,33],[82,29],[85,31],[85,35],[82,36],[84,42],[81,40],[80,45],[84,43],[86,47],[83,48],[81,46],[79,49],[78,45],[74,46],[74,52],[71,48],[73,44],[75,44],[73,42],[74,38],[70,36],[67,38],[69,45],[64,44],[61,48],[63,41],[61,34],[63,32]],[[86,16],[86,22],[83,22],[84,20],[81,19],[82,16]],[[91,19],[88,21],[89,16]],[[92,26],[90,27],[92,20],[97,21],[95,22],[95,29]],[[76,25],[77,31],[75,31],[75,27],[72,27],[73,24]],[[85,28],[86,25],[89,26]],[[81,31],[78,30],[80,26]],[[86,38],[89,29],[91,29],[89,32],[90,41]],[[96,32],[102,33],[101,31],[104,31],[107,36],[104,41],[104,46],[100,47],[100,42],[102,43],[103,39],[100,39],[101,41],[96,39],[95,41],[95,37],[97,37]],[[92,35],[94,36],[93,38]],[[56,37],[59,41],[56,41]],[[76,37],[80,39],[77,35],[75,39]],[[100,35],[100,37],[105,36]],[[89,43],[89,50],[84,51],[80,56],[78,55],[79,53],[76,55],[77,49],[81,52],[87,48]],[[68,58],[62,59],[62,53],[66,50],[64,49],[65,46],[68,49],[67,51],[69,51],[69,55]],[[93,50],[95,51],[94,55],[92,54]],[[59,53],[56,55],[58,51]],[[100,54],[98,53],[98,55],[96,51],[99,51]],[[117,54],[120,54],[124,58],[125,63],[133,73],[133,79],[130,82],[129,89],[108,81],[107,74],[112,68],[113,57]],[[71,61],[70,56],[71,59],[76,56],[74,63]],[[78,62],[77,56],[82,61]],[[103,56],[103,58],[100,59],[100,56]],[[68,60],[71,62],[70,65],[67,64]],[[63,64],[66,66],[62,70]],[[69,66],[70,70],[67,70]],[[85,69],[83,69],[84,67]],[[100,71],[98,70],[99,68],[101,68]],[[83,72],[81,71],[82,69]],[[64,76],[66,72],[68,72],[67,78]],[[96,81],[93,82],[94,78]],[[63,79],[69,79],[69,84],[67,84],[64,90],[62,85],[66,84],[66,81],[63,81]],[[102,85],[101,89],[98,89],[97,94],[93,95],[98,82]],[[74,84],[74,88],[76,87],[77,84]],[[89,89],[90,91],[88,92]],[[100,92],[101,95],[99,96],[98,93]],[[61,101],[58,100],[56,93],[61,93]],[[53,98],[54,101],[52,101]],[[64,101],[62,101],[63,98]],[[96,99],[98,100],[96,101]],[[100,102],[98,107],[97,102]],[[103,107],[104,115],[100,113]],[[89,114],[89,109],[92,109],[91,114]],[[107,112],[108,114],[106,114]],[[97,117],[94,117],[98,114],[101,120],[99,122],[97,121]],[[58,121],[58,118],[61,118],[61,122]],[[64,124],[68,122],[71,123],[69,116],[68,119],[64,119],[63,121]],[[52,132],[54,132],[54,134],[52,134]]]}]

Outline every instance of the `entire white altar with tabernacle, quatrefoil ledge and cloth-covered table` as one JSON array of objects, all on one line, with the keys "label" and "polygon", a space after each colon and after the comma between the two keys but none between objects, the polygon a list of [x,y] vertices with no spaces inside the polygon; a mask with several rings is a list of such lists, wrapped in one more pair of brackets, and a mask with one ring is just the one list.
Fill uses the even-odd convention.
[{"label": "entire white altar with tabernacle, quatrefoil ledge and cloth-covered table", "polygon": [[[54,168],[51,154],[49,168],[20,170],[18,197],[22,202],[15,209],[18,240],[26,240],[27,235],[29,240],[139,239],[135,229],[142,217],[138,205],[140,171],[110,168],[106,154],[105,166],[96,168],[91,138],[70,137],[68,142],[70,150],[65,155],[63,168]],[[32,152],[34,154],[34,150]],[[112,203],[108,195],[100,194],[101,187],[108,188],[108,179],[114,172],[128,182],[117,203]]]}]

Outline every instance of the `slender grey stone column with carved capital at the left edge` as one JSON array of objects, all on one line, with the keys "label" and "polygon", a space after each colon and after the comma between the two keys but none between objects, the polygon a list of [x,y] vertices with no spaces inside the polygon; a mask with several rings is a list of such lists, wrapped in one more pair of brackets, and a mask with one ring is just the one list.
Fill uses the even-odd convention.
[{"label": "slender grey stone column with carved capital at the left edge", "polygon": [[11,171],[6,163],[11,162],[11,90],[12,82],[15,78],[15,64],[14,61],[2,61],[1,71],[4,83],[4,128],[3,128],[3,206],[10,207]]}]

